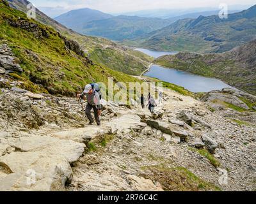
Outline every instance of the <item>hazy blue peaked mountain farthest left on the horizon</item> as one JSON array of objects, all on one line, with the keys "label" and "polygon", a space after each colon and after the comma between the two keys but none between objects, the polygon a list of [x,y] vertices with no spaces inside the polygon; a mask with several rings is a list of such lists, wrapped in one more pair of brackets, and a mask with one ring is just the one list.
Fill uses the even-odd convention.
[{"label": "hazy blue peaked mountain farthest left on the horizon", "polygon": [[91,22],[93,20],[103,20],[111,17],[112,15],[109,15],[108,13],[91,10],[90,8],[82,8],[63,13],[62,15],[56,17],[55,20],[69,27],[70,29],[73,29],[74,31],[79,31],[79,28],[83,27],[87,22]]}]

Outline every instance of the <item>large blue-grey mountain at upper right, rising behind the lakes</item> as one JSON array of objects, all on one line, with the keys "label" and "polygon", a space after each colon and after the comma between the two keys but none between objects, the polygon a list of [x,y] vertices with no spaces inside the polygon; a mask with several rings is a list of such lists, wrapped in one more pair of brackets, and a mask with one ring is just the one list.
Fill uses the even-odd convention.
[{"label": "large blue-grey mountain at upper right, rising behind the lakes", "polygon": [[229,14],[227,19],[212,15],[179,20],[135,40],[135,43],[153,50],[225,52],[255,38],[256,5]]}]

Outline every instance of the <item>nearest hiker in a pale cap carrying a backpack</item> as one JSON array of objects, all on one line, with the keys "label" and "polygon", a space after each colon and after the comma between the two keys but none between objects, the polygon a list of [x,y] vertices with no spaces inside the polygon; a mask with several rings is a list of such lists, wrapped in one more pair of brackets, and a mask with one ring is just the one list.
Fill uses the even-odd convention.
[{"label": "nearest hiker in a pale cap carrying a backpack", "polygon": [[100,103],[100,94],[99,92],[95,91],[94,88],[95,88],[95,84],[94,86],[92,86],[91,84],[86,85],[86,87],[84,88],[83,94],[77,94],[77,98],[84,99],[84,100],[87,99],[85,114],[88,120],[90,121],[89,125],[93,124],[93,118],[91,114],[91,110],[93,109],[97,126],[100,126],[100,115],[101,115],[102,106]]}]

